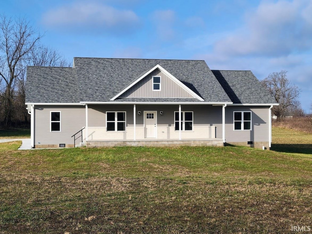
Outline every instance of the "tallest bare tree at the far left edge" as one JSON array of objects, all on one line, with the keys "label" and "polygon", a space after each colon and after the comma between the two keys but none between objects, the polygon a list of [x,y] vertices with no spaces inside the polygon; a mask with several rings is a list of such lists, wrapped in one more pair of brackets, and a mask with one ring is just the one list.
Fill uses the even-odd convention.
[{"label": "tallest bare tree at the far left edge", "polygon": [[0,16],[0,77],[3,80],[4,125],[11,124],[15,85],[42,35],[25,18]]}]

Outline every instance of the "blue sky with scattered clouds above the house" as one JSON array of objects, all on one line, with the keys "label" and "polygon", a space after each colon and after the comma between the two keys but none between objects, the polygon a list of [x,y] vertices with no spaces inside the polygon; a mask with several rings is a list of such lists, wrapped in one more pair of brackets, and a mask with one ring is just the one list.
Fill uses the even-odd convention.
[{"label": "blue sky with scattered clouds above the house", "polygon": [[312,1],[5,1],[42,42],[78,57],[203,59],[211,69],[251,70],[259,80],[287,70],[312,101]]}]

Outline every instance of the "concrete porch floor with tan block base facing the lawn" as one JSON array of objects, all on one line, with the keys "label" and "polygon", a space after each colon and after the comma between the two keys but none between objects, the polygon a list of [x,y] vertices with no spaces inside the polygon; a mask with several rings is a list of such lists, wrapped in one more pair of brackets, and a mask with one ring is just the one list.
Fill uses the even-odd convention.
[{"label": "concrete porch floor with tan block base facing the lawn", "polygon": [[88,140],[86,147],[114,147],[114,146],[223,146],[220,138],[205,139],[137,139],[137,140]]}]

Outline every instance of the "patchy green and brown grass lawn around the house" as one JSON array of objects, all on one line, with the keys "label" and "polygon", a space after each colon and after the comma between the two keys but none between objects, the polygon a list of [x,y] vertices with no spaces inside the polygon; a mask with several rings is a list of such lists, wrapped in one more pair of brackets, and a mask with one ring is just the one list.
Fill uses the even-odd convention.
[{"label": "patchy green and brown grass lawn around the house", "polygon": [[274,128],[272,139],[276,151],[0,144],[0,232],[291,233],[291,225],[312,226],[312,137]]}]

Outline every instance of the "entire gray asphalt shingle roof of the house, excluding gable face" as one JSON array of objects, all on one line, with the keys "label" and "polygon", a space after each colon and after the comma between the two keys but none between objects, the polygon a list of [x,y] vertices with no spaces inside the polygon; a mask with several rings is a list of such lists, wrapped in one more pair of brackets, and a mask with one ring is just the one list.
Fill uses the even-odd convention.
[{"label": "entire gray asphalt shingle roof of the house, excluding gable face", "polygon": [[[211,71],[203,60],[75,57],[74,63],[75,68],[28,67],[26,102],[110,101],[159,64],[205,102],[275,103],[251,71]],[[115,101],[201,102],[196,98],[118,98]]]}]

